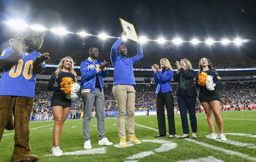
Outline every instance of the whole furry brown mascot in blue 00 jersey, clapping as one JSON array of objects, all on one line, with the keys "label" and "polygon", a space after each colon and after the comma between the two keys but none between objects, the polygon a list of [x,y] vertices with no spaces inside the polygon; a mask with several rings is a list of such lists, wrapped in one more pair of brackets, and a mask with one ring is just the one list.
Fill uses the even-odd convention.
[{"label": "whole furry brown mascot in blue 00 jersey, clapping", "polygon": [[36,52],[43,43],[45,32],[31,28],[18,31],[9,47],[0,55],[0,141],[4,128],[15,130],[12,162],[34,162],[30,154],[29,120],[34,102],[36,74],[45,69],[48,53]]}]

